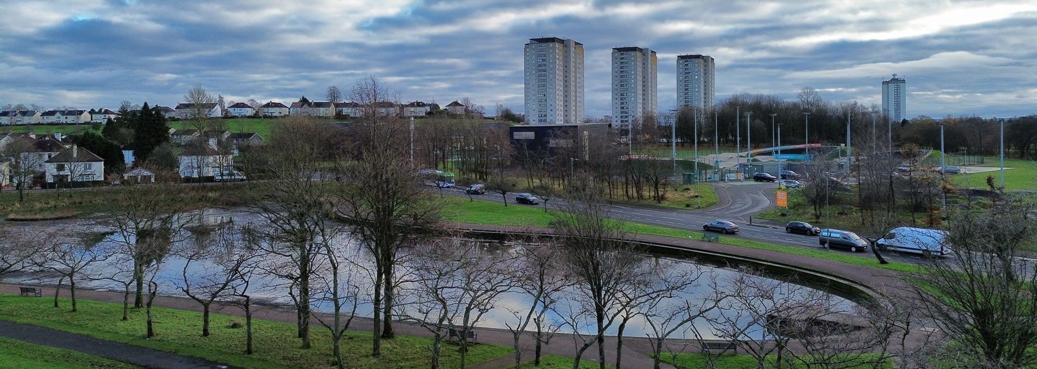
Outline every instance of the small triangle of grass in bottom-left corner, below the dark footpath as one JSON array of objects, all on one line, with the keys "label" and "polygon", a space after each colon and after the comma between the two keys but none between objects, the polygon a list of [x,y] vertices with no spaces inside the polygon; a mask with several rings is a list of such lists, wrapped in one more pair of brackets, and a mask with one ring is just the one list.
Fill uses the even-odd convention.
[{"label": "small triangle of grass in bottom-left corner, below the dark footpath", "polygon": [[132,369],[139,368],[69,349],[37,345],[0,337],[0,369]]}]

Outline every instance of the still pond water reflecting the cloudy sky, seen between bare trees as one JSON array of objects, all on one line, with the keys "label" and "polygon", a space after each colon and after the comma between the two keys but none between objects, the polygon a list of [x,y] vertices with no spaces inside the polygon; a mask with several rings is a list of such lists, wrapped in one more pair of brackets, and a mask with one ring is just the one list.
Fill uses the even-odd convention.
[{"label": "still pond water reflecting the cloudy sky, seen between bare trees", "polygon": [[[199,217],[196,219],[214,225],[227,223],[261,224],[263,222],[262,218],[244,209],[206,209],[200,211],[198,215]],[[62,231],[106,231],[95,220],[90,219],[25,223],[18,224],[17,226]],[[102,243],[111,242],[103,240]],[[475,242],[480,243],[480,248],[485,250],[485,252],[507,253],[512,252],[514,248],[522,247],[518,244],[507,242]],[[347,263],[349,265],[348,271],[342,273],[342,275],[362,291],[359,293],[360,299],[357,307],[357,315],[370,317],[372,316],[372,306],[369,302],[365,302],[365,300],[370,300],[371,294],[370,286],[372,283],[369,282],[369,274],[365,271],[371,266],[370,258],[364,257],[359,245],[348,239],[347,235],[341,237],[341,244],[343,245],[343,253],[346,254],[344,256],[354,260]],[[717,309],[708,311],[704,318],[694,320],[690,329],[679,330],[671,338],[717,339],[725,336],[724,332],[731,332],[736,325],[739,328],[735,331],[745,332],[742,337],[763,338],[766,335],[764,330],[761,328],[761,324],[754,323],[753,319],[757,319],[755,321],[758,321],[761,316],[767,316],[769,313],[768,310],[775,306],[789,305],[797,301],[809,300],[812,304],[823,301],[823,304],[821,304],[823,309],[840,314],[853,314],[854,310],[859,308],[853,302],[823,292],[821,290],[823,288],[816,285],[807,286],[801,283],[782,281],[776,279],[775,276],[765,276],[757,273],[746,274],[738,267],[697,262],[693,259],[673,255],[642,252],[635,255],[635,257],[639,258],[639,262],[652,264],[666,271],[665,275],[667,276],[698,276],[698,279],[689,288],[674,293],[671,297],[660,300],[657,306],[652,311],[679,311],[689,307],[694,309],[696,306],[711,301],[710,299],[716,299],[719,294],[741,294],[740,299],[726,299]],[[94,264],[91,266],[89,275],[105,277],[119,269],[125,269],[124,265],[116,265],[113,264],[114,262],[103,261]],[[183,285],[184,275],[187,274],[189,278],[197,278],[197,276],[203,275],[209,267],[211,265],[206,262],[198,260],[191,261],[189,264],[188,260],[181,256],[170,255],[166,257],[156,277],[156,281],[159,283],[159,294],[184,296],[184,292],[178,288],[179,285]],[[402,273],[398,274],[399,276],[404,276],[403,279],[405,279],[405,276],[409,275],[410,266],[403,265],[400,268]],[[32,285],[54,285],[57,281],[58,278],[55,274],[45,272],[12,274],[5,276],[3,279],[5,283]],[[252,278],[250,284],[249,294],[256,301],[267,305],[290,308],[292,299],[288,293],[285,280],[269,274],[257,273]],[[81,280],[78,282],[78,285],[80,288],[95,290],[122,290],[122,284],[113,281]],[[420,316],[417,316],[417,306],[409,305],[409,303],[413,302],[410,300],[407,289],[414,288],[413,283],[403,281],[400,284],[400,288],[401,290],[398,292],[399,296],[397,297],[398,303],[400,303],[400,309],[397,311],[402,311],[413,317],[420,318]],[[574,283],[566,286],[559,294],[562,297],[556,305],[556,308],[549,311],[545,315],[552,324],[564,325],[564,328],[558,331],[559,333],[571,333],[572,325],[577,325],[576,331],[583,334],[592,333],[594,330],[592,317],[572,318],[576,315],[573,310],[583,309],[583,305],[586,305],[586,303],[581,303],[582,300],[577,297],[581,294],[577,288],[579,287]],[[517,290],[504,292],[493,302],[492,308],[477,325],[496,329],[506,329],[509,324],[514,325],[516,321],[514,312],[528,311],[532,300],[529,294]],[[315,311],[332,311],[332,306],[329,302],[316,301],[312,305]],[[352,306],[352,303],[348,305]],[[348,310],[348,307],[346,310]],[[645,337],[651,334],[650,325],[647,321],[648,318],[646,318],[645,314],[629,315],[632,317],[625,324],[623,336]],[[578,321],[578,323],[565,324],[565,321]],[[618,325],[618,321],[612,324],[608,334],[616,335]],[[533,325],[530,324],[528,329],[533,329]]]}]

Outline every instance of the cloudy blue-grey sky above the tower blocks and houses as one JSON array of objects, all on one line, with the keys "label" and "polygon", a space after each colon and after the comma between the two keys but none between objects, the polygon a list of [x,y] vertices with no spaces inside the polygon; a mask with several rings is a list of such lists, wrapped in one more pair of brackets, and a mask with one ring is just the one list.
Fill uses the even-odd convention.
[{"label": "cloudy blue-grey sky above the tower blocks and houses", "polygon": [[909,116],[1037,113],[1037,1],[0,0],[0,105],[174,105],[323,98],[373,76],[400,100],[469,96],[523,111],[523,44],[586,50],[586,113],[610,114],[610,53],[658,53],[660,110],[678,54],[717,59],[717,97],[804,86],[879,104],[907,80]]}]

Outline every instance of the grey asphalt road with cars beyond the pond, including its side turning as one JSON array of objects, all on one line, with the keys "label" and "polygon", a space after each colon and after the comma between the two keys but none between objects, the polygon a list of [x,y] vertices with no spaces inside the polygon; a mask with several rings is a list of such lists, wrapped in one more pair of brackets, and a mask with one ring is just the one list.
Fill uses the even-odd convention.
[{"label": "grey asphalt road with cars beyond the pond, including its side turning", "polygon": [[[721,203],[717,206],[705,208],[701,210],[683,210],[683,209],[669,209],[669,208],[648,208],[648,207],[638,207],[629,205],[613,205],[613,218],[634,222],[641,224],[650,224],[656,226],[664,226],[670,228],[679,228],[685,230],[702,230],[702,226],[708,222],[714,220],[727,220],[732,221],[735,224],[741,226],[741,230],[737,234],[728,234],[728,237],[746,238],[752,240],[763,242],[767,244],[794,246],[802,248],[819,249],[820,245],[817,244],[817,236],[809,236],[796,233],[786,233],[785,229],[782,227],[775,227],[769,225],[755,224],[750,225],[747,221],[749,220],[750,214],[762,210],[770,206],[772,200],[765,194],[768,189],[773,189],[774,183],[738,183],[730,184],[727,188],[718,189],[718,193],[724,191],[721,194]],[[444,194],[449,193],[452,196],[467,197],[464,190],[459,189],[444,189]],[[508,194],[508,202],[515,206],[533,206],[525,204],[516,204],[514,200],[515,194]],[[498,193],[486,193],[484,195],[472,195],[472,197],[479,200],[501,202],[501,195]],[[725,197],[728,199],[725,201]],[[548,202],[548,208],[559,209],[565,207],[565,200],[555,198]],[[542,204],[536,206],[543,206]],[[742,220],[745,218],[745,220]],[[833,251],[833,252],[847,252],[847,251]],[[871,254],[862,254],[863,256],[870,256]],[[904,262],[917,262],[921,260],[919,257],[902,255],[896,253],[885,253],[890,260],[904,261]]]}]

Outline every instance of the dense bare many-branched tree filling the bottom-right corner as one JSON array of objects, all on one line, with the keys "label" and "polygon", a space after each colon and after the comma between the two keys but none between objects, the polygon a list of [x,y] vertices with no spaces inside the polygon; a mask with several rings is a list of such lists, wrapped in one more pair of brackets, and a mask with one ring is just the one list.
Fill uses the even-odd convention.
[{"label": "dense bare many-branched tree filling the bottom-right corner", "polygon": [[960,211],[947,246],[912,276],[923,314],[955,342],[962,367],[1022,368],[1037,363],[1037,263],[1017,258],[1037,239],[1033,203],[1019,198],[988,210]]}]

